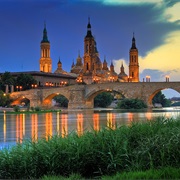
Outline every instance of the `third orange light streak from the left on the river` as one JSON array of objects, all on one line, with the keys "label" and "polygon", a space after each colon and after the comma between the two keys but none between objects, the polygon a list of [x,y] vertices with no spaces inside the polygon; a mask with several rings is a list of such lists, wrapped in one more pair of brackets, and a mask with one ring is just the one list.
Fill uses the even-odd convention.
[{"label": "third orange light streak from the left on the river", "polygon": [[32,140],[35,141],[38,138],[38,116],[37,114],[32,114],[32,129],[31,129],[31,137]]}]

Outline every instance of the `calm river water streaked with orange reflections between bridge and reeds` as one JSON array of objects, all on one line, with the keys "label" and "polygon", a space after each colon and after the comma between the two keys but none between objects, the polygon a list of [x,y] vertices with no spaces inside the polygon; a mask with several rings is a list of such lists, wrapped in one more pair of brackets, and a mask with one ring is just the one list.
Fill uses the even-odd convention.
[{"label": "calm river water streaked with orange reflections between bridge and reeds", "polygon": [[99,130],[107,126],[115,128],[132,121],[151,120],[158,116],[179,117],[180,108],[149,109],[144,112],[94,109],[43,114],[0,113],[0,149],[11,147],[25,139],[37,140],[55,134],[64,137],[74,131],[82,135],[87,130]]}]

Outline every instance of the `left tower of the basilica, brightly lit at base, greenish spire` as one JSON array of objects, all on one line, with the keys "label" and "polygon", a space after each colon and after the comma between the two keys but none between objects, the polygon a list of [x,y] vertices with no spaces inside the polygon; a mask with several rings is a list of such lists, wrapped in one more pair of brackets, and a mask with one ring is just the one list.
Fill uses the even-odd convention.
[{"label": "left tower of the basilica, brightly lit at base, greenish spire", "polygon": [[43,39],[41,41],[41,58],[39,60],[41,72],[52,72],[52,60],[50,58],[50,42],[47,37],[46,24],[43,30]]}]

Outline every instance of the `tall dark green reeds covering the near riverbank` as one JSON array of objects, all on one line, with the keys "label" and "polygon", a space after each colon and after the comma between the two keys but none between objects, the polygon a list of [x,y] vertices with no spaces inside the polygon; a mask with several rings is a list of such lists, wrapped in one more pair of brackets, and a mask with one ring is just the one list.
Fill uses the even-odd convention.
[{"label": "tall dark green reeds covering the near riverbank", "polygon": [[180,118],[53,136],[0,151],[0,179],[100,178],[168,167],[180,168]]}]

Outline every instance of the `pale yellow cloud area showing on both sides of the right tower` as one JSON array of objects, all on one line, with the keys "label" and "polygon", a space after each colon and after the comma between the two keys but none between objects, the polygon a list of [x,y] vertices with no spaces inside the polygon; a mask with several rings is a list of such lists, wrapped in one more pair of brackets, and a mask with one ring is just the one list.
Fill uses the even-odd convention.
[{"label": "pale yellow cloud area showing on both sides of the right tower", "polygon": [[[146,56],[139,56],[140,81],[151,76],[151,81],[165,81],[169,76],[171,81],[179,81],[180,77],[180,31],[169,33],[165,43],[150,51]],[[115,71],[119,74],[123,63],[125,73],[129,74],[129,60],[113,60]]]}]

